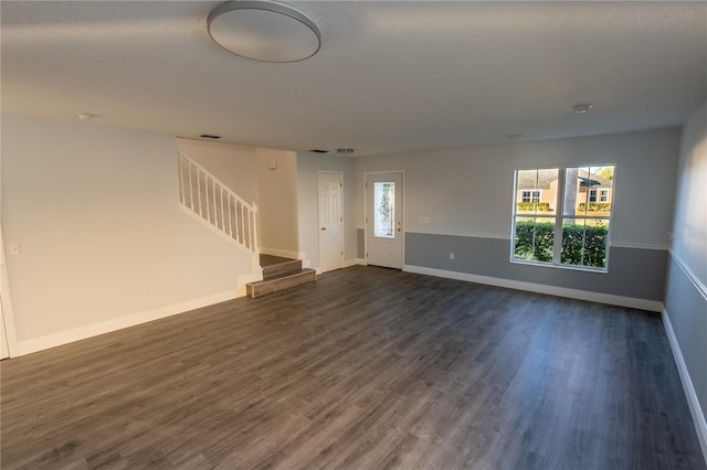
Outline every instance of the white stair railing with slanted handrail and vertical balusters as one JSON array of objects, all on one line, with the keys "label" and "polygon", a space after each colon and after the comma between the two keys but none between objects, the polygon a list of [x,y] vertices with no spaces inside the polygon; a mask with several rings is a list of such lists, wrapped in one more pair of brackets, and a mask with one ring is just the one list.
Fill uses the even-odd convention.
[{"label": "white stair railing with slanted handrail and vertical balusters", "polygon": [[182,207],[257,255],[257,205],[245,202],[184,152],[178,152],[178,162]]}]

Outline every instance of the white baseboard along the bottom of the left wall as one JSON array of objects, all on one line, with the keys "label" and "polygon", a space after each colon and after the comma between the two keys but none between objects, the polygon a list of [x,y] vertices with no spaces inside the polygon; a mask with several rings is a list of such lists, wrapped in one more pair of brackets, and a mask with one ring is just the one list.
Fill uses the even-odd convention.
[{"label": "white baseboard along the bottom of the left wall", "polygon": [[43,351],[50,348],[61,346],[63,344],[73,343],[74,341],[97,337],[98,334],[109,333],[112,331],[122,330],[124,328],[135,327],[140,323],[147,323],[148,321],[159,320],[161,318],[184,313],[190,310],[212,306],[214,303],[225,302],[226,300],[233,300],[236,297],[236,292],[230,290],[226,292],[201,297],[199,299],[172,303],[170,306],[160,307],[154,310],[129,314],[127,317],[116,318],[114,320],[108,320],[96,324],[89,324],[87,327],[76,328],[74,330],[62,331],[61,333],[56,334],[50,334],[46,337],[35,338],[33,340],[21,341],[18,343],[17,355],[31,354],[33,352]]}]

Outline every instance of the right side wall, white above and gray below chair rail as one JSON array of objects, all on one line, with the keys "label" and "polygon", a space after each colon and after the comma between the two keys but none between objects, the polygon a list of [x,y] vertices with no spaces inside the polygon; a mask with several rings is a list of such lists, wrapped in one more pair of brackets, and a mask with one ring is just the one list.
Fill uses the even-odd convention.
[{"label": "right side wall, white above and gray below chair rail", "polygon": [[[707,102],[683,128],[665,310],[707,413]],[[703,442],[705,444],[705,442]],[[707,448],[704,449],[707,452]]]}]

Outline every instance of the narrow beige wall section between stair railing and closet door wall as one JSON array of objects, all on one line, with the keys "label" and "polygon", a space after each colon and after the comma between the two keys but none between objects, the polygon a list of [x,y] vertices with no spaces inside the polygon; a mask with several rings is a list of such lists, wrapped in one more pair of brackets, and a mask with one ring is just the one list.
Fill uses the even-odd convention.
[{"label": "narrow beige wall section between stair railing and closet door wall", "polygon": [[[276,165],[270,169],[268,164]],[[261,252],[297,258],[297,154],[257,149]]]}]

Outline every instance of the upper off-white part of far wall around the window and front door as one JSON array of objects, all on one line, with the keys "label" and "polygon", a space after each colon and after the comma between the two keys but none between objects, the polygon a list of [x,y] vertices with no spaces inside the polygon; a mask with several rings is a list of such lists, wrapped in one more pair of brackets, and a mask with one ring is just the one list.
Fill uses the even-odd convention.
[{"label": "upper off-white part of far wall around the window and front door", "polygon": [[361,158],[357,188],[366,172],[404,170],[407,232],[510,238],[515,169],[616,163],[612,243],[666,247],[678,142],[679,129],[661,129]]}]

